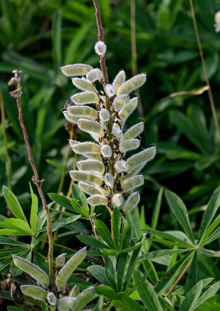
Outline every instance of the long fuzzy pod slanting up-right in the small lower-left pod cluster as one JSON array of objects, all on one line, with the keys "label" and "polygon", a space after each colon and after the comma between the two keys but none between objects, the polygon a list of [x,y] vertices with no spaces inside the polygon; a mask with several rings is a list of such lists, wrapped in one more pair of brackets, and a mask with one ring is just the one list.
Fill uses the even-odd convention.
[{"label": "long fuzzy pod slanting up-right in the small lower-left pod cluster", "polygon": [[56,276],[56,287],[59,291],[63,290],[66,281],[73,273],[73,271],[79,266],[79,264],[85,259],[85,257],[86,248],[84,247],[75,253],[62,267],[62,269],[59,271],[59,274]]}]

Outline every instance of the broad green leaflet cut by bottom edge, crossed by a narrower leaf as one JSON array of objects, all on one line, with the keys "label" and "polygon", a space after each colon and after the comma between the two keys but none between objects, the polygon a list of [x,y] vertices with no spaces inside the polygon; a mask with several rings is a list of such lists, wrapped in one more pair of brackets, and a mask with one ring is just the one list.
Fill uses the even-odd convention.
[{"label": "broad green leaflet cut by bottom edge, crossed by a narrower leaf", "polygon": [[[143,274],[135,270],[133,273],[133,279],[134,283],[137,283],[141,278],[143,277]],[[158,300],[158,295],[154,291],[153,286],[145,280],[138,288],[137,293],[141,298],[141,301],[144,303],[146,308],[149,311],[162,311],[161,305]]]}]

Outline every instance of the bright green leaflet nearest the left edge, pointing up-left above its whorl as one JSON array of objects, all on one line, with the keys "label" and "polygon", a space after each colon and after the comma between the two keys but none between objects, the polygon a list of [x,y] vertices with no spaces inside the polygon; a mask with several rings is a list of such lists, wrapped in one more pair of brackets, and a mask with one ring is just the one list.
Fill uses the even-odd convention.
[{"label": "bright green leaflet nearest the left edge, pointing up-left above its whorl", "polygon": [[28,223],[25,214],[20,206],[20,203],[18,202],[16,196],[14,193],[8,189],[6,186],[3,186],[3,194],[5,197],[5,201],[7,202],[8,206],[10,207],[12,213],[15,215],[16,218],[24,220],[26,223]]}]

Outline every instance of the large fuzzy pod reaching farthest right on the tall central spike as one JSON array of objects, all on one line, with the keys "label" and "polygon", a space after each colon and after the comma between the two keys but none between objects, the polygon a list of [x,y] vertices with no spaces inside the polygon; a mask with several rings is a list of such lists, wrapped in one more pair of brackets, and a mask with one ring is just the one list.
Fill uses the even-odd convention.
[{"label": "large fuzzy pod reaching farthest right on the tall central spike", "polygon": [[128,163],[128,173],[130,170],[134,169],[134,167],[139,166],[139,165],[146,165],[146,163],[150,160],[152,160],[155,157],[156,154],[156,147],[150,147],[147,148],[136,155],[131,156],[130,158],[127,159]]}]

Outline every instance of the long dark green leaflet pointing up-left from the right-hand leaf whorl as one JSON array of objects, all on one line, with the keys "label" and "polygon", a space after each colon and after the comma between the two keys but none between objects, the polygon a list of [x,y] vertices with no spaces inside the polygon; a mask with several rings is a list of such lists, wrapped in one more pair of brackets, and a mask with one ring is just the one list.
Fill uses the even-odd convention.
[{"label": "long dark green leaflet pointing up-left from the right-hand leaf whorl", "polygon": [[182,226],[183,230],[185,231],[191,242],[195,243],[185,204],[182,202],[181,198],[177,196],[176,193],[166,189],[165,194],[169,206],[173,211],[173,214],[177,218],[178,222]]}]

